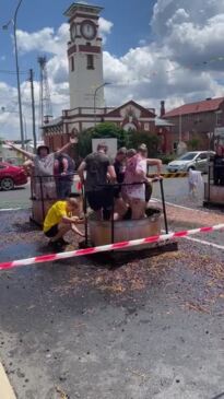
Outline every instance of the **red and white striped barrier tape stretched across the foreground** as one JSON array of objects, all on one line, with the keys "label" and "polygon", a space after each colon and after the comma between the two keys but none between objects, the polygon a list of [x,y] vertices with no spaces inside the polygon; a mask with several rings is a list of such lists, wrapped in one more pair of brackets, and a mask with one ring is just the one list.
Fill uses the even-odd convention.
[{"label": "red and white striped barrier tape stretched across the foreground", "polygon": [[26,265],[33,265],[33,263],[51,262],[51,261],[59,260],[59,259],[68,259],[68,258],[73,258],[73,257],[79,257],[79,256],[93,255],[93,254],[97,254],[97,253],[106,253],[106,251],[111,251],[111,250],[117,250],[117,249],[122,249],[122,248],[129,248],[129,247],[133,247],[137,245],[161,243],[161,242],[170,240],[174,238],[184,238],[188,235],[193,235],[193,234],[198,234],[198,233],[211,233],[211,232],[219,231],[219,230],[224,230],[224,224],[217,224],[217,225],[211,226],[211,227],[185,230],[185,231],[176,232],[176,233],[161,234],[161,235],[155,235],[155,236],[151,236],[151,237],[146,237],[146,238],[139,238],[139,239],[132,239],[129,242],[103,245],[101,247],[76,249],[76,250],[71,250],[71,251],[67,251],[67,253],[42,255],[42,256],[34,257],[34,258],[1,262],[0,270],[7,270],[7,269],[9,270],[9,269],[16,268],[19,266],[26,266]]}]

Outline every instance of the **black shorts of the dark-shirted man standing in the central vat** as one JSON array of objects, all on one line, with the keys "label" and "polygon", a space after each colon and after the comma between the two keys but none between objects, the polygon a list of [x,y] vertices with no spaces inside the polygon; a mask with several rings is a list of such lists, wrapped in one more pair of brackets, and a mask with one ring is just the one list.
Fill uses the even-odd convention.
[{"label": "black shorts of the dark-shirted man standing in the central vat", "polygon": [[99,211],[101,209],[111,210],[114,201],[113,187],[106,187],[104,190],[87,191],[86,198],[93,211]]}]

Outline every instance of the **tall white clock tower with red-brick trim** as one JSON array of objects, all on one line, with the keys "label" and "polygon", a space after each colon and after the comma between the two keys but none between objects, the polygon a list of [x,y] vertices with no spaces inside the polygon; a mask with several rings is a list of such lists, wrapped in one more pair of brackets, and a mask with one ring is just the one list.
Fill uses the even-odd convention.
[{"label": "tall white clock tower with red-brick trim", "polygon": [[68,59],[71,109],[105,106],[102,38],[98,37],[102,10],[96,5],[73,3],[64,12],[70,24]]}]

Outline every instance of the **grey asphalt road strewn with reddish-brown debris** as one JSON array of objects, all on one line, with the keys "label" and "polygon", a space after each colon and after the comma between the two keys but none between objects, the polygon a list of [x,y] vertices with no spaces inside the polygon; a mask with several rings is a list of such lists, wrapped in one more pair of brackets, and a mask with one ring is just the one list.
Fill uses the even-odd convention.
[{"label": "grey asphalt road strewn with reddish-brown debris", "polygon": [[[170,230],[224,222],[188,197],[186,179],[164,187]],[[20,193],[28,203],[28,188]],[[0,213],[1,260],[48,253],[28,215]],[[0,356],[17,398],[224,398],[223,233],[196,238],[153,258],[2,271]]]}]

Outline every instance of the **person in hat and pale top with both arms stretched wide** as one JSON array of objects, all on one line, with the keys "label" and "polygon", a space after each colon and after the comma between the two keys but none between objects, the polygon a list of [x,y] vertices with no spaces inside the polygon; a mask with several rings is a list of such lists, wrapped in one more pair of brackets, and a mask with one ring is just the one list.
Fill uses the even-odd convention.
[{"label": "person in hat and pale top with both arms stretched wide", "polygon": [[37,154],[33,154],[25,150],[22,150],[11,142],[7,142],[12,149],[26,156],[34,163],[34,175],[35,177],[35,192],[37,199],[55,199],[56,198],[56,185],[54,178],[54,164],[55,155],[66,151],[75,141],[70,139],[66,145],[63,145],[56,153],[50,153],[47,145],[39,145]]}]

